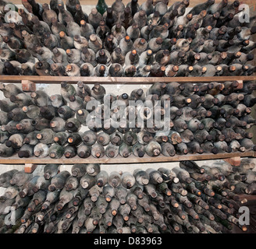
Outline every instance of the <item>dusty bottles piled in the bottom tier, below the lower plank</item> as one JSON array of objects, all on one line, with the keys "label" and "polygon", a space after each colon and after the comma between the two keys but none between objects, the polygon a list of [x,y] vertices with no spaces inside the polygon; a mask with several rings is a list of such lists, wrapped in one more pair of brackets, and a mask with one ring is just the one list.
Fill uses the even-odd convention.
[{"label": "dusty bottles piled in the bottom tier, below the lower plank", "polygon": [[[240,167],[181,161],[169,170],[101,170],[73,164],[70,173],[47,164],[41,173],[0,175],[0,233],[232,233],[254,232],[240,223],[240,206],[255,200],[255,160]],[[10,217],[8,207],[16,212]],[[12,222],[12,225],[6,223]],[[15,221],[15,225],[14,225]]]}]

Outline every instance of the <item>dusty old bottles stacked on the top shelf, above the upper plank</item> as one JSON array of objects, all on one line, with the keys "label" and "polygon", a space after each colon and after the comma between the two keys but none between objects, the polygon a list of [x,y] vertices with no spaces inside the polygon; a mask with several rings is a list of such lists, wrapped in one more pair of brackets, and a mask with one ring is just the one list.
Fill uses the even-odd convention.
[{"label": "dusty old bottles stacked on the top shelf, above the upper plank", "polygon": [[[225,76],[256,68],[255,16],[239,1],[0,3],[0,75]],[[241,7],[241,8],[240,8]],[[88,15],[87,15],[88,14]]]}]

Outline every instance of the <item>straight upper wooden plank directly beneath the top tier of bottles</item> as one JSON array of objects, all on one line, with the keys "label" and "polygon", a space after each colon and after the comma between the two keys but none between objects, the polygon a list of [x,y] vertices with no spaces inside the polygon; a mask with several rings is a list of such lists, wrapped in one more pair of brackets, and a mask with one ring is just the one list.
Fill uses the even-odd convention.
[{"label": "straight upper wooden plank directly beneath the top tier of bottles", "polygon": [[254,81],[254,76],[221,76],[221,77],[69,77],[69,76],[37,76],[37,75],[0,75],[0,82],[21,82],[28,80],[36,83],[57,84],[59,82],[76,83],[83,81],[94,84],[151,84],[154,82],[226,82],[226,81]]}]

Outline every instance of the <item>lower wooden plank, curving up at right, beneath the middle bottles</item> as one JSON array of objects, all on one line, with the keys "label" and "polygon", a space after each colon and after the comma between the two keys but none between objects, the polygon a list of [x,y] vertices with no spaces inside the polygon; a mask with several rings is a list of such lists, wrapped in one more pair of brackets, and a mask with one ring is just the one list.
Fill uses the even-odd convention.
[{"label": "lower wooden plank, curving up at right, beneath the middle bottles", "polygon": [[151,157],[145,155],[144,157],[137,156],[129,156],[127,158],[123,156],[117,156],[115,158],[108,158],[107,156],[103,156],[101,158],[94,158],[90,156],[88,158],[80,158],[79,156],[75,156],[73,158],[66,158],[62,156],[59,159],[52,159],[50,157],[38,158],[36,156],[32,156],[29,158],[19,158],[18,156],[12,156],[9,158],[0,158],[0,164],[23,164],[23,163],[33,163],[33,164],[44,164],[44,163],[64,163],[64,164],[74,164],[74,163],[104,163],[104,164],[116,164],[116,163],[167,163],[167,162],[179,162],[182,160],[214,160],[214,159],[224,159],[230,157],[247,157],[254,156],[254,151],[249,151],[245,153],[204,153],[204,154],[187,154],[187,155],[176,155],[176,156],[157,156]]}]

